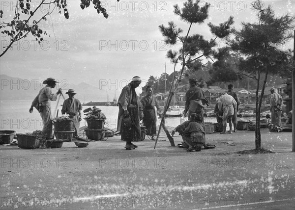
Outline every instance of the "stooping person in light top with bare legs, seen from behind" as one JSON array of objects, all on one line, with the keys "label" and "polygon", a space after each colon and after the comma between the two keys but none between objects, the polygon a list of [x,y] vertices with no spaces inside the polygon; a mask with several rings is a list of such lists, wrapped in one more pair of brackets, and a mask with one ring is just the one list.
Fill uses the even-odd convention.
[{"label": "stooping person in light top with bare legs, seen from behind", "polygon": [[227,127],[228,121],[230,125],[230,133],[233,133],[232,119],[236,109],[236,100],[232,96],[228,95],[227,93],[224,93],[222,96],[220,96],[217,103],[218,103],[219,111],[220,112],[223,111],[223,115],[222,115],[223,131],[220,134],[226,133],[226,127]]}]

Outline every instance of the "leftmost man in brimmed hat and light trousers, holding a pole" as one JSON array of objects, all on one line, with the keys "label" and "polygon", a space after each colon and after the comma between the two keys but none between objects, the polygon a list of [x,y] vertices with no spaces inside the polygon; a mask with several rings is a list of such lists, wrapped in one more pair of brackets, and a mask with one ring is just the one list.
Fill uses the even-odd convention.
[{"label": "leftmost man in brimmed hat and light trousers, holding a pole", "polygon": [[[52,139],[52,116],[51,116],[51,105],[50,101],[56,101],[57,95],[61,93],[59,89],[57,93],[52,93],[51,89],[56,87],[56,81],[54,78],[47,78],[43,81],[43,84],[46,84],[43,87],[39,94],[35,97],[32,102],[31,107],[29,108],[29,113],[33,112],[33,107],[35,107],[41,115],[43,121],[43,134],[46,139]],[[41,149],[44,146],[43,142],[41,142]]]}]

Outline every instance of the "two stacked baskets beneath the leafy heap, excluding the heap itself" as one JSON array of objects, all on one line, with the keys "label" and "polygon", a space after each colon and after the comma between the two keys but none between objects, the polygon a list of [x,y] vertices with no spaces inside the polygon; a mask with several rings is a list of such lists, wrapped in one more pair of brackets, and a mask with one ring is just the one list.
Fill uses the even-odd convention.
[{"label": "two stacked baskets beneath the leafy heap, excluding the heap itself", "polygon": [[84,131],[89,139],[95,141],[104,139],[106,133],[106,129],[104,128],[104,119],[86,119],[86,122],[88,128]]}]

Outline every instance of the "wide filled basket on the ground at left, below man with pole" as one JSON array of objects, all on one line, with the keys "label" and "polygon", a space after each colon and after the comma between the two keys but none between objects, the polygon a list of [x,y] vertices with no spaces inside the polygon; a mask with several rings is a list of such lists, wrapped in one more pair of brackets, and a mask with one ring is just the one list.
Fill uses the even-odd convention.
[{"label": "wide filled basket on the ground at left, below man with pole", "polygon": [[36,149],[40,147],[40,142],[45,141],[42,131],[36,130],[32,133],[17,133],[17,144],[19,148]]}]

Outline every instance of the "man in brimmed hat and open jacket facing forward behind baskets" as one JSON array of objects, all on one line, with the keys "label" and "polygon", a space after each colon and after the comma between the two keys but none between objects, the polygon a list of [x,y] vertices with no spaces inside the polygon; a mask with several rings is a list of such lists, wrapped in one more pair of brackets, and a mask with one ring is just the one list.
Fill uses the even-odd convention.
[{"label": "man in brimmed hat and open jacket facing forward behind baskets", "polygon": [[78,136],[80,121],[82,120],[82,105],[78,99],[74,98],[77,94],[75,90],[69,89],[65,94],[68,94],[69,98],[63,102],[61,114],[67,113],[70,116],[74,116],[75,136]]}]

